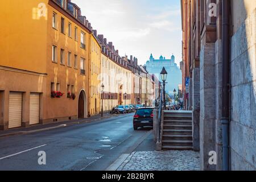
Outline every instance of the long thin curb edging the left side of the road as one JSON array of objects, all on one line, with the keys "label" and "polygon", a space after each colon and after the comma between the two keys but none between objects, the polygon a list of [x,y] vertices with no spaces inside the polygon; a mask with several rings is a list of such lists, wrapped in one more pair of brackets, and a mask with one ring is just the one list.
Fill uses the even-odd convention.
[{"label": "long thin curb edging the left side of the road", "polygon": [[38,130],[17,131],[17,132],[13,132],[13,133],[2,134],[2,135],[0,135],[0,138],[14,136],[14,135],[37,133],[37,132],[40,132],[40,131],[59,129],[61,127],[68,127],[68,126],[79,125],[79,124],[84,124],[84,123],[91,123],[91,122],[94,122],[94,121],[101,121],[102,119],[108,119],[108,118],[112,118],[112,117],[115,117],[115,116],[117,116],[117,115],[110,115],[109,117],[92,119],[90,121],[75,121],[75,122],[72,122],[72,123],[66,123],[66,124],[62,124],[62,125],[58,125],[58,126],[53,126],[53,127],[46,127],[44,129],[38,129]]}]

